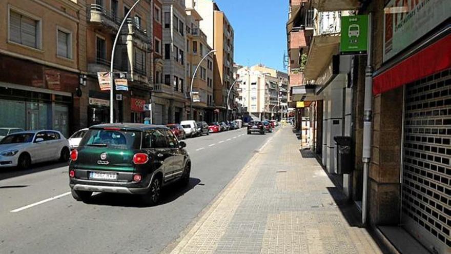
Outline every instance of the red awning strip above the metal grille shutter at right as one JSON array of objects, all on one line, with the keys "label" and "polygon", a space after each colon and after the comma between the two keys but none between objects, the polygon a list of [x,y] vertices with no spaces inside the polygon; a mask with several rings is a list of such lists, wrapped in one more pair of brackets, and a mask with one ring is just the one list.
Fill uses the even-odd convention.
[{"label": "red awning strip above the metal grille shutter at right", "polygon": [[383,93],[451,68],[451,35],[373,78],[373,94]]}]

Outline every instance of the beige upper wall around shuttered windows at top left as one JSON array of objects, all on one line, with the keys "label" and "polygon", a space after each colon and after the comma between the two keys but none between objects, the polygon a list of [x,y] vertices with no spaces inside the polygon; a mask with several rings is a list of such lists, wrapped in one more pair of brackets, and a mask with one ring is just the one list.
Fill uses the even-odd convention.
[{"label": "beige upper wall around shuttered windows at top left", "polygon": [[[79,1],[79,4],[82,4],[81,2],[84,1]],[[40,20],[39,49],[8,40],[9,9]],[[4,17],[0,19],[0,53],[76,71],[80,69],[80,66],[84,66],[79,64],[77,53],[79,50],[77,41],[80,24],[78,13],[84,11],[79,5],[68,1],[3,0],[2,5],[0,5],[0,16]],[[67,30],[72,34],[72,59],[56,55],[57,28]]]}]

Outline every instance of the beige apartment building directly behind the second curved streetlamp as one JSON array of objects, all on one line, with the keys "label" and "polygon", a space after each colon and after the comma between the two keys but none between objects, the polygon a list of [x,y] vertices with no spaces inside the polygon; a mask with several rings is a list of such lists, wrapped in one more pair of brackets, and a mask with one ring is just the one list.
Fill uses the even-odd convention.
[{"label": "beige apartment building directly behind the second curved streetlamp", "polygon": [[[196,10],[196,1],[186,0],[187,12],[187,78],[193,81],[193,92],[197,93],[198,102],[193,102],[193,119],[196,121],[214,121],[213,105],[213,54],[208,54],[212,48],[207,43],[207,35],[199,28],[202,17]],[[201,62],[203,56],[206,56]],[[193,74],[196,67],[196,75]],[[188,86],[191,84],[188,83]],[[190,87],[188,87],[189,89]]]}]

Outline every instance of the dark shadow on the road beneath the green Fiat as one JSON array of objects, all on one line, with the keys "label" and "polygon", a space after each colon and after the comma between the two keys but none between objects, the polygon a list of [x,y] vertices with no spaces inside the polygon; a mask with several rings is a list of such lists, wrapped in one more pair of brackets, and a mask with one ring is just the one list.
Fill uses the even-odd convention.
[{"label": "dark shadow on the road beneath the green Fiat", "polygon": [[[158,205],[167,204],[175,201],[179,197],[183,196],[188,191],[192,190],[196,185],[200,184],[200,179],[190,178],[188,186],[182,186],[178,182],[171,183],[162,188],[161,200]],[[100,193],[92,197],[87,202],[90,205],[105,205],[105,206],[124,206],[124,207],[148,207],[141,201],[139,195],[132,194],[116,194],[116,193]],[[157,205],[157,206],[158,206]]]}]

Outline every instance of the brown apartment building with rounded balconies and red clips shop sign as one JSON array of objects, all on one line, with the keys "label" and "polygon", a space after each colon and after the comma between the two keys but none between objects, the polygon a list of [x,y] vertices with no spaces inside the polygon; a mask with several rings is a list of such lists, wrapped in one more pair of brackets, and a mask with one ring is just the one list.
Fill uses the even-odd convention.
[{"label": "brown apartment building with rounded balconies and red clips shop sign", "polygon": [[[80,107],[87,112],[86,126],[109,122],[110,91],[101,91],[97,72],[110,70],[114,38],[133,4],[132,0],[90,0],[86,3],[88,79],[82,91],[87,96],[80,101]],[[152,81],[152,9],[150,2],[140,2],[120,31],[114,52],[113,77],[121,77],[118,72],[127,73],[123,77],[128,80],[128,91],[115,91],[115,122],[142,123],[149,114],[144,105],[149,103],[152,87],[149,82]]]}]

